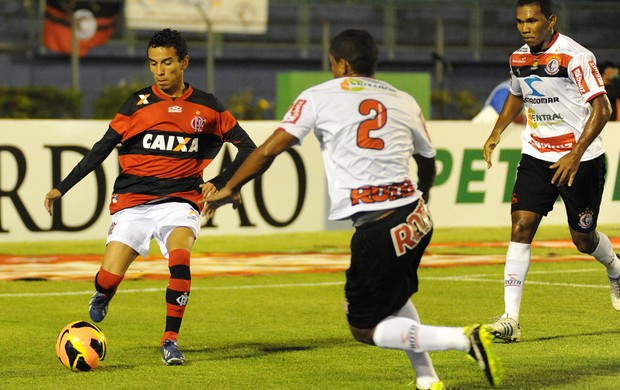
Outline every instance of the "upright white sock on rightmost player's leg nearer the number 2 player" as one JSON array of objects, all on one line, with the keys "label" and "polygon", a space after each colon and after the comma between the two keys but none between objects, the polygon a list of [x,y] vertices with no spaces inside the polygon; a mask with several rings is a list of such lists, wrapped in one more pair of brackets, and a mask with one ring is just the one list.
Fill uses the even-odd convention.
[{"label": "upright white sock on rightmost player's leg nearer the number 2 player", "polygon": [[504,309],[510,318],[519,322],[523,283],[530,269],[531,245],[511,241],[504,266]]}]

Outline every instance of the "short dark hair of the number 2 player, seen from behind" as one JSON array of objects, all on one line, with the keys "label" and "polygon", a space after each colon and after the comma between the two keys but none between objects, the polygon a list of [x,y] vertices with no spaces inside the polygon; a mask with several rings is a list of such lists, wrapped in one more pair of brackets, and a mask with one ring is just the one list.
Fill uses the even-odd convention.
[{"label": "short dark hair of the number 2 player, seen from behind", "polygon": [[352,70],[363,76],[373,76],[379,49],[373,36],[364,30],[345,30],[336,35],[329,48],[335,60],[346,60]]}]

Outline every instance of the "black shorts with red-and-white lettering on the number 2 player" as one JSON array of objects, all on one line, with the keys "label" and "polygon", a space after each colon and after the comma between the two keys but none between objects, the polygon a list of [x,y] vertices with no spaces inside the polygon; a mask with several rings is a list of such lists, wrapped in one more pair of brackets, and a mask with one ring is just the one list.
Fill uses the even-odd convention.
[{"label": "black shorts with red-and-white lettering on the number 2 player", "polygon": [[356,228],[344,288],[349,324],[372,329],[418,291],[418,266],[432,234],[421,200]]}]

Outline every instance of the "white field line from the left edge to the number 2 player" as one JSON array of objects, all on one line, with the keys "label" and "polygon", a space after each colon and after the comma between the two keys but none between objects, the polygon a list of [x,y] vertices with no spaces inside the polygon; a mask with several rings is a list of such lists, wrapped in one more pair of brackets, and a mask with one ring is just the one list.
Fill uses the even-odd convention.
[{"label": "white field line from the left edge to the number 2 player", "polygon": [[[344,282],[321,282],[321,283],[285,283],[285,284],[256,284],[241,286],[214,286],[214,287],[192,287],[192,291],[200,290],[252,290],[260,288],[286,288],[286,287],[325,287],[343,285]],[[165,287],[150,287],[119,290],[118,293],[143,293],[143,292],[162,292]],[[56,297],[71,295],[92,295],[93,290],[88,291],[59,291],[59,292],[41,292],[41,293],[3,293],[0,298],[23,298],[23,297]]]}]

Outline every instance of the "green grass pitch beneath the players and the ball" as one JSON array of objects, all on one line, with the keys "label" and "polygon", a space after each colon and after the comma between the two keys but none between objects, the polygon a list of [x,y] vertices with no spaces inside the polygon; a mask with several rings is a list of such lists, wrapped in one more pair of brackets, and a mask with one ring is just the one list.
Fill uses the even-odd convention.
[{"label": "green grass pitch beneath the players and the ball", "polygon": [[[601,227],[610,237],[618,229]],[[441,230],[435,242],[505,241],[507,229]],[[243,250],[346,252],[350,232],[244,237]],[[539,239],[567,239],[541,228]],[[239,237],[203,237],[199,252],[238,249]],[[0,244],[0,253],[100,253],[100,242]],[[17,250],[22,248],[21,250]],[[446,251],[471,252],[471,248]],[[230,251],[230,249],[228,250]],[[498,253],[502,248],[478,248]],[[536,249],[545,255],[548,250]],[[576,250],[555,249],[577,254]],[[462,326],[503,310],[502,265],[421,268],[414,296],[422,321]],[[353,341],[342,310],[339,273],[196,278],[179,344],[185,366],[161,363],[165,281],[127,280],[101,323],[108,356],[90,373],[72,373],[54,353],[57,333],[87,319],[92,282],[0,282],[0,388],[6,389],[399,389],[415,388],[403,352]],[[495,344],[506,389],[620,388],[620,313],[595,261],[533,263],[521,312],[523,338]],[[487,382],[461,352],[431,353],[448,389]]]}]

